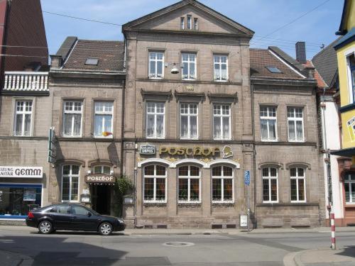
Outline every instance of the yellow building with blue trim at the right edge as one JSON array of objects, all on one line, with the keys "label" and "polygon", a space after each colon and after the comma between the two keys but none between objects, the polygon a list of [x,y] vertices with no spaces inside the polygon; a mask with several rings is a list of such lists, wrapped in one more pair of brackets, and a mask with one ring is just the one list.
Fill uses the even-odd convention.
[{"label": "yellow building with blue trim at the right edge", "polygon": [[342,115],[342,150],[336,155],[351,157],[355,165],[355,0],[345,0],[342,21],[337,35],[343,35],[334,49],[337,51],[340,113]]}]

